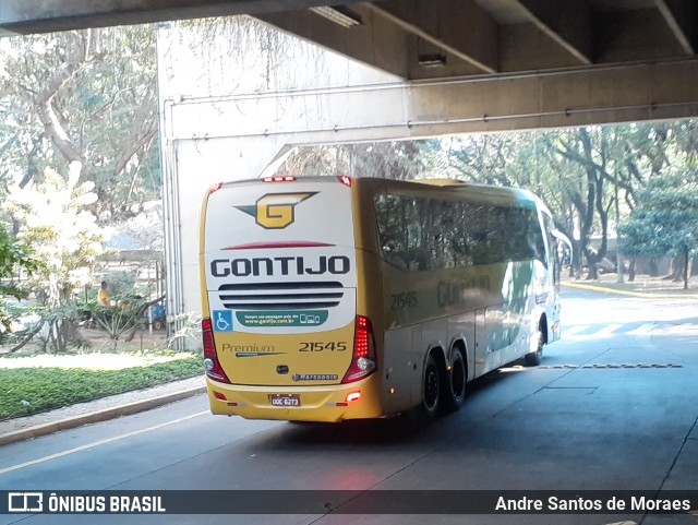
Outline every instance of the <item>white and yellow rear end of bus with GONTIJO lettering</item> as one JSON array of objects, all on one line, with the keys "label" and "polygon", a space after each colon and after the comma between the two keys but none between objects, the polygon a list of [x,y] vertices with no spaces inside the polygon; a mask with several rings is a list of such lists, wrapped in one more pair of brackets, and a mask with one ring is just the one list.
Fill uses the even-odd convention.
[{"label": "white and yellow rear end of bus with GONTIJO lettering", "polygon": [[217,184],[201,228],[212,411],[305,421],[380,416],[373,329],[357,312],[351,180]]}]

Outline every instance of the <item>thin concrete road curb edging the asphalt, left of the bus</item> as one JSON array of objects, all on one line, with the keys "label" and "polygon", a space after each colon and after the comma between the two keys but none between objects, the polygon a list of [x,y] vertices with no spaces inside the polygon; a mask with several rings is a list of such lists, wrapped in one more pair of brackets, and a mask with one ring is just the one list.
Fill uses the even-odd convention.
[{"label": "thin concrete road curb edging the asphalt, left of the bus", "polygon": [[112,407],[112,408],[106,408],[104,410],[92,411],[88,414],[83,414],[80,416],[61,419],[59,421],[53,421],[45,425],[37,425],[35,427],[16,430],[14,432],[9,432],[0,435],[0,446],[7,445],[10,443],[16,443],[17,441],[25,441],[25,440],[38,438],[40,435],[58,432],[59,430],[67,430],[75,427],[82,427],[83,425],[88,425],[88,423],[98,422],[98,421],[106,421],[108,419],[115,419],[117,417],[128,416],[130,414],[136,414],[139,411],[149,410],[152,408],[157,408],[159,406],[167,405],[169,403],[174,403],[176,401],[181,401],[197,394],[203,394],[204,392],[206,392],[206,386],[196,386],[194,389],[176,392],[173,394],[166,394],[166,395],[160,395],[158,397],[152,397],[149,399],[136,401],[134,403],[129,403],[129,404]]}]

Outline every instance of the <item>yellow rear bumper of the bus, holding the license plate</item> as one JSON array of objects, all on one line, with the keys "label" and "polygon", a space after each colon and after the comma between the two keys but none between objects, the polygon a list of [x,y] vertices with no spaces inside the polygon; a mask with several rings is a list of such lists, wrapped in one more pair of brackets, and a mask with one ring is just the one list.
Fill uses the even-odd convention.
[{"label": "yellow rear bumper of the bus, holding the license plate", "polygon": [[212,414],[245,419],[339,422],[383,416],[378,375],[349,384],[249,386],[206,378]]}]

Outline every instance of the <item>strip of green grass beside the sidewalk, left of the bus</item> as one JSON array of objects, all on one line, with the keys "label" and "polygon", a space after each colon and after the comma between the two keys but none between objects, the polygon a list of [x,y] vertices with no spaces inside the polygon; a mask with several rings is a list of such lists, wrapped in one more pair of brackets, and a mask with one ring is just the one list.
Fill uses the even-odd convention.
[{"label": "strip of green grass beside the sidewalk, left of the bus", "polygon": [[202,356],[117,370],[0,368],[0,420],[145,389],[203,373]]}]

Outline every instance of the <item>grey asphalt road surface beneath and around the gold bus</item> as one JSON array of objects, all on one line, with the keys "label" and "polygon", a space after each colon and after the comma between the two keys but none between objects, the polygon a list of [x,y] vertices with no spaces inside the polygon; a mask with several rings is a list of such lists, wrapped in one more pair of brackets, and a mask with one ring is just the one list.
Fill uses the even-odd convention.
[{"label": "grey asphalt road surface beneath and around the gold bus", "polygon": [[[697,301],[579,290],[565,291],[564,299],[565,335],[545,348],[541,367],[510,367],[478,380],[459,413],[431,425],[414,418],[335,426],[246,421],[210,416],[200,395],[0,448],[0,490],[698,489]],[[0,525],[626,520],[698,524],[690,514],[628,512],[5,514]]]}]

